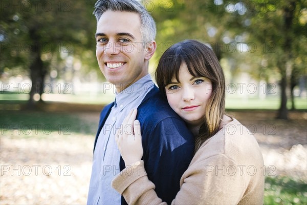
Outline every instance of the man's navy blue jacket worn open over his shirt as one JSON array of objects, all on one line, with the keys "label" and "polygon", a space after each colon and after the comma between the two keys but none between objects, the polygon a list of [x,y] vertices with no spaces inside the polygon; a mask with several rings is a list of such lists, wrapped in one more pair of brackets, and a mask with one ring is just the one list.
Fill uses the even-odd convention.
[{"label": "man's navy blue jacket worn open over his shirt", "polygon": [[[114,103],[102,110],[94,150],[99,133]],[[168,204],[180,189],[180,178],[194,153],[194,137],[185,122],[169,107],[155,86],[138,107],[143,145],[143,160],[149,180],[157,195]],[[120,170],[125,168],[121,157]],[[122,204],[127,204],[122,197]]]}]

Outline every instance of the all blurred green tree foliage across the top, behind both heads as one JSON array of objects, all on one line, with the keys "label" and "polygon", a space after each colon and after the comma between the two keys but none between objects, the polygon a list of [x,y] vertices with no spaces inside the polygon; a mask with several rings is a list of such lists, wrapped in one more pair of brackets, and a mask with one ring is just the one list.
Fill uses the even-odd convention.
[{"label": "all blurred green tree foliage across the top, behind both heads", "polygon": [[[95,57],[96,19],[92,14],[95,2],[2,1],[3,81],[16,75],[29,76],[37,84],[45,80],[72,83],[75,78],[83,82],[102,79]],[[150,61],[150,73],[168,47],[192,38],[212,47],[223,61],[230,83],[246,74],[248,80],[281,83],[280,108],[286,108],[287,98],[294,98],[299,78],[306,76],[307,2],[304,0],[139,2],[157,24],[157,51]],[[286,89],[291,91],[290,96],[286,96]],[[295,108],[294,100],[292,105]]]}]

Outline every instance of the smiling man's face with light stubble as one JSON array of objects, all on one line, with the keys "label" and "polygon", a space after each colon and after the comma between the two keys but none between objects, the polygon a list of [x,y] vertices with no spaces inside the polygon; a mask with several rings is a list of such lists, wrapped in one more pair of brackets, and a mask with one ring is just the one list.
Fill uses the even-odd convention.
[{"label": "smiling man's face with light stubble", "polygon": [[134,12],[106,11],[97,24],[96,57],[107,81],[121,92],[148,73],[141,19]]}]

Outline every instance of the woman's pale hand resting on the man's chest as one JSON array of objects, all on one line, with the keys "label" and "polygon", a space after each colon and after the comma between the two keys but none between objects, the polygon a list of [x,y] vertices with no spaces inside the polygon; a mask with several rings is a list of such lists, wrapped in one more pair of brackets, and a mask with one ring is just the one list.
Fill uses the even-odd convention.
[{"label": "woman's pale hand resting on the man's chest", "polygon": [[115,134],[115,141],[126,167],[141,160],[143,156],[141,126],[139,120],[136,120],[137,113],[136,109],[131,110]]}]

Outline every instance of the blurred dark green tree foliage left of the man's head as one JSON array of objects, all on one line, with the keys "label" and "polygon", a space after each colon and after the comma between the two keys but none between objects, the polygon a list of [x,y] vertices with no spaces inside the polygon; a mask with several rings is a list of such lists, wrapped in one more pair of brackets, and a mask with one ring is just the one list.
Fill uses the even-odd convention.
[{"label": "blurred dark green tree foliage left of the man's head", "polygon": [[0,71],[19,74],[14,70],[26,69],[29,75],[36,52],[48,72],[63,72],[68,56],[82,61],[84,72],[91,70],[96,65],[95,2],[2,1]]}]

